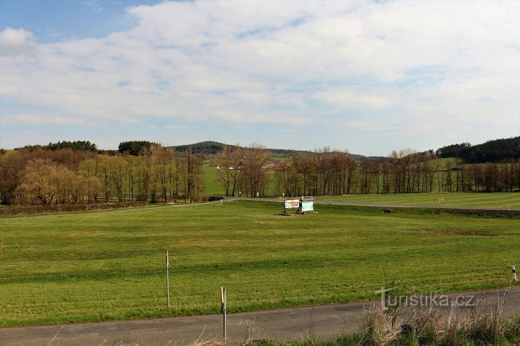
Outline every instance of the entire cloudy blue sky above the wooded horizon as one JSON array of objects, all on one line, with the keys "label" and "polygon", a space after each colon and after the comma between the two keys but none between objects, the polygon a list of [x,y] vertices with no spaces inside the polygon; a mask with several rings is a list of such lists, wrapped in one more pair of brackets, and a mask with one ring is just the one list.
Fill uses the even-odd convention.
[{"label": "entire cloudy blue sky above the wooded horizon", "polygon": [[518,135],[518,1],[0,0],[3,148]]}]

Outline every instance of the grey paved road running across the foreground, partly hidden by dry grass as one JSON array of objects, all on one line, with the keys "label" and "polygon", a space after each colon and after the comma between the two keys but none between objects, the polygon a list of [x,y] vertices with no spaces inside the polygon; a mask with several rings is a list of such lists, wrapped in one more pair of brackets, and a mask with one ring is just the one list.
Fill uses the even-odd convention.
[{"label": "grey paved road running across the foreground, partly hidden by dry grass", "polygon": [[[462,311],[472,309],[466,303],[487,303],[497,306],[502,301],[503,290],[466,292],[449,294],[451,301],[459,298]],[[471,298],[476,297],[476,298]],[[500,297],[498,299],[498,297]],[[438,297],[441,305],[446,299]],[[379,304],[379,302],[376,302]],[[359,326],[363,310],[372,302],[278,309],[257,312],[228,314],[228,342],[243,341],[247,335],[252,338],[278,338],[293,340],[318,335],[331,338],[343,331],[351,331]],[[409,310],[409,309],[408,309]],[[446,314],[447,309],[439,310]],[[504,315],[520,312],[520,287],[514,287],[505,299]],[[254,329],[248,333],[246,325]],[[250,330],[251,330],[250,329]],[[58,326],[16,327],[0,329],[2,345],[153,345],[191,344],[222,337],[222,315],[202,315],[170,317],[164,319],[111,321]]]}]

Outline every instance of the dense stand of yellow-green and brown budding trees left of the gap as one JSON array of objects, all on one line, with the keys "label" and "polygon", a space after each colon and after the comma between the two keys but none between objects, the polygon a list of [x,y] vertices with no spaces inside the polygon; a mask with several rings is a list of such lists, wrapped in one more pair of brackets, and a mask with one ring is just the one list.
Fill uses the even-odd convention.
[{"label": "dense stand of yellow-green and brown budding trees left of the gap", "polygon": [[10,150],[0,156],[0,193],[4,204],[99,203],[149,200],[152,203],[200,201],[202,164],[154,144],[139,156],[86,151]]}]

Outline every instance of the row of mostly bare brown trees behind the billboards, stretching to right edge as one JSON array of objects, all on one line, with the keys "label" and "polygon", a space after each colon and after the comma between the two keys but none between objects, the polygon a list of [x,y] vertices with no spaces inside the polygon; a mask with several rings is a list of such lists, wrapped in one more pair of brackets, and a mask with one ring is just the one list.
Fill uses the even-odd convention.
[{"label": "row of mostly bare brown trees behind the billboards, stretching to right edge", "polygon": [[[258,191],[266,195],[269,173],[262,167],[268,157],[262,147],[220,151],[215,159],[221,167],[217,181],[226,196],[236,196],[237,186],[248,196],[254,197]],[[392,151],[388,162],[368,158],[358,162],[345,151],[324,147],[293,157],[292,162],[281,162],[274,179],[276,191],[271,194],[278,196],[512,191],[520,185],[520,160],[465,164],[461,159],[441,160],[432,151],[418,153],[407,148]]]}]

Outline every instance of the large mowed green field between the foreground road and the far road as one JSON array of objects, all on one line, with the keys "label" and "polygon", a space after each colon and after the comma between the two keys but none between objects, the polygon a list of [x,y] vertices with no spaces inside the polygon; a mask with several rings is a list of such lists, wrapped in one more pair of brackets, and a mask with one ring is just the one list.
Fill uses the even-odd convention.
[{"label": "large mowed green field between the foreground road and the far road", "polygon": [[[386,280],[445,292],[510,284],[520,218],[281,203],[0,222],[0,326],[135,319],[374,298]],[[172,311],[166,311],[170,251]]]}]

